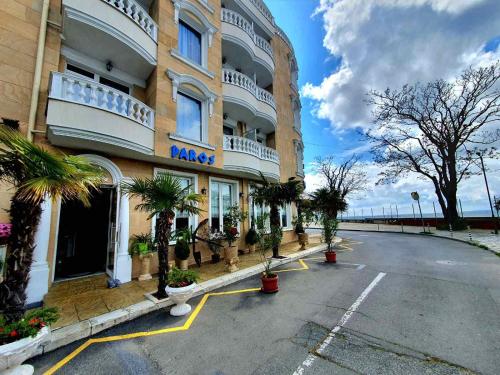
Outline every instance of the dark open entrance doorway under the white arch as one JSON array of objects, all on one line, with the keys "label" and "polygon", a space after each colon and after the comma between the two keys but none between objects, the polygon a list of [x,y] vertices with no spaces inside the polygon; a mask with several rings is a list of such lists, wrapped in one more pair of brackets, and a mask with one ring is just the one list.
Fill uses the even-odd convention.
[{"label": "dark open entrance doorway under the white arch", "polygon": [[106,272],[113,275],[116,247],[116,187],[103,185],[90,206],[72,200],[61,203],[55,279]]}]

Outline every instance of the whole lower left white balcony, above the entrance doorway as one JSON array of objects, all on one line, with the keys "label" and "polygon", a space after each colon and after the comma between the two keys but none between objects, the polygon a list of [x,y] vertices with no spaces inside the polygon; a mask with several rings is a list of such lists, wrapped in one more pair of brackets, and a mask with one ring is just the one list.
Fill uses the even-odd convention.
[{"label": "whole lower left white balcony, above the entrance doorway", "polygon": [[57,146],[124,157],[154,153],[154,111],[111,87],[52,72],[47,135]]}]

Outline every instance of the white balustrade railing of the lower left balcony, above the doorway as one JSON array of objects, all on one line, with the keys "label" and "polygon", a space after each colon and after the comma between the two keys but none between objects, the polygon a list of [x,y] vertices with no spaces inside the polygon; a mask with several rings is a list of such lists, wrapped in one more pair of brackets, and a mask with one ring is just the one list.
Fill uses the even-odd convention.
[{"label": "white balustrade railing of the lower left balcony, above the doorway", "polygon": [[50,98],[86,105],[127,117],[154,129],[154,111],[112,87],[59,72],[51,73]]}]

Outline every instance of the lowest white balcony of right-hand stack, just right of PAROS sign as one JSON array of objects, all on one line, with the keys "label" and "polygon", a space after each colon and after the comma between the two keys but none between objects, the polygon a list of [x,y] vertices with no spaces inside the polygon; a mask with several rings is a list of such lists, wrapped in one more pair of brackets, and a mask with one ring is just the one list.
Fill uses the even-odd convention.
[{"label": "lowest white balcony of right-hand stack, just right of PAROS sign", "polygon": [[280,179],[278,152],[248,138],[224,136],[224,169],[235,175],[260,177],[260,172],[270,180]]}]

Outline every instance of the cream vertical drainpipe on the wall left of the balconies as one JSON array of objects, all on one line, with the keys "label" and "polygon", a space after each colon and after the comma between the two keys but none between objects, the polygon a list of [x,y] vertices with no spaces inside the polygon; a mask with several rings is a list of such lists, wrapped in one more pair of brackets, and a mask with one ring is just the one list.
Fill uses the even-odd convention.
[{"label": "cream vertical drainpipe on the wall left of the balconies", "polygon": [[43,0],[42,17],[40,19],[40,33],[38,34],[38,47],[36,51],[35,75],[33,77],[33,89],[31,91],[30,116],[28,119],[28,140],[33,140],[35,129],[38,99],[40,97],[40,81],[42,79],[43,55],[45,53],[45,36],[47,35],[47,19],[49,18],[49,1]]}]

